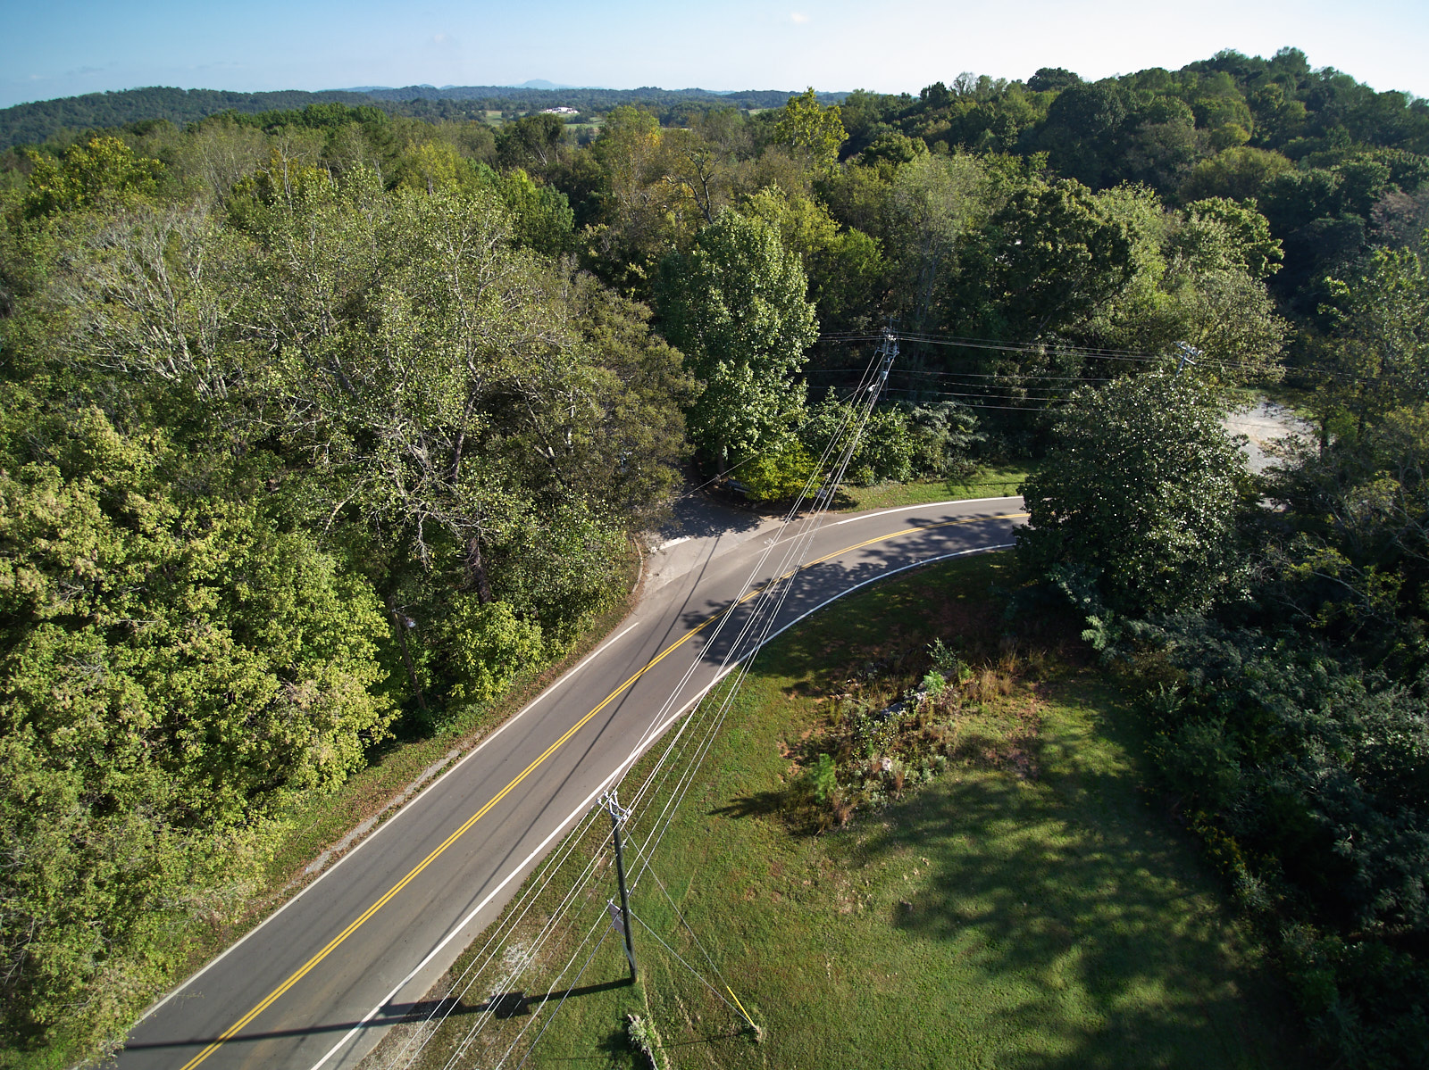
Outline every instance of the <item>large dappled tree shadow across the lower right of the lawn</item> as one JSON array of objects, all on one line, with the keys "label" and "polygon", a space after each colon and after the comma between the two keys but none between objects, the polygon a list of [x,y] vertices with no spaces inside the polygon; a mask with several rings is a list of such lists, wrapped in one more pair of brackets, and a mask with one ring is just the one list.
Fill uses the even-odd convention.
[{"label": "large dappled tree shadow across the lower right of the lawn", "polygon": [[927,860],[932,879],[889,906],[892,923],[1017,993],[966,1009],[983,1036],[1025,1039],[997,1066],[1299,1064],[1288,1009],[1235,953],[1212,879],[1119,780],[945,780],[845,843],[859,861]]}]

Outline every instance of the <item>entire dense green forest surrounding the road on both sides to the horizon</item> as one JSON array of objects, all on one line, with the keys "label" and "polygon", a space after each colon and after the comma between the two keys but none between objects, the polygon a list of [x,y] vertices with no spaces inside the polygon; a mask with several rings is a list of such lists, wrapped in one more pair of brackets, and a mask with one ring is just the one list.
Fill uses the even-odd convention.
[{"label": "entire dense green forest surrounding the road on both sides to the horizon", "polygon": [[[1022,611],[1143,687],[1326,1061],[1422,1066],[1429,106],[1286,49],[597,119],[4,159],[7,1057],[113,1043],[296,801],[560,657],[686,461],[802,483],[896,321],[852,477],[1037,461]],[[1276,383],[1318,440],[1256,479]]]}]

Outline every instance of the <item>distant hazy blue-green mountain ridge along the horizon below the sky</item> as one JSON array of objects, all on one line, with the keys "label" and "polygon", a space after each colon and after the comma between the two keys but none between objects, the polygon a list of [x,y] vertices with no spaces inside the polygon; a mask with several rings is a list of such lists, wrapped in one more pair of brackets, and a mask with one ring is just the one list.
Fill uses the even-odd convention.
[{"label": "distant hazy blue-green mountain ridge along the horizon below the sky", "polygon": [[[487,110],[532,111],[556,106],[596,111],[607,111],[622,104],[669,111],[694,103],[766,109],[783,106],[792,93],[792,90],[667,90],[657,86],[544,89],[533,84],[542,81],[542,79],[533,79],[524,86],[447,86],[444,89],[434,86],[404,86],[400,89],[370,86],[316,93],[306,90],[237,93],[216,89],[184,90],[167,86],[86,93],[79,97],[39,100],[0,109],[0,149],[40,144],[64,130],[104,130],[146,120],[167,120],[176,126],[186,126],[220,111],[257,114],[262,111],[289,111],[330,101],[373,104],[394,116],[437,120],[479,119]],[[845,96],[845,93],[820,93],[819,100],[825,104],[833,104]]]}]

